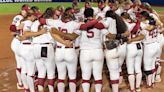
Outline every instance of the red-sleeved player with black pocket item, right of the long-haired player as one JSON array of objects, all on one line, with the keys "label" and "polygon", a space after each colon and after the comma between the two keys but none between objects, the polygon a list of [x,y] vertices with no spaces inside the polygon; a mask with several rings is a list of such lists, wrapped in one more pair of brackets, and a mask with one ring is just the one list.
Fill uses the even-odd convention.
[{"label": "red-sleeved player with black pocket item, right of the long-haired player", "polygon": [[144,39],[144,35],[140,32],[140,21],[132,22],[128,13],[121,14],[126,25],[128,26],[128,31],[131,33],[127,45],[127,56],[126,65],[128,71],[128,80],[130,86],[130,92],[141,91],[140,85],[142,81],[142,55],[143,47],[141,41]]}]

